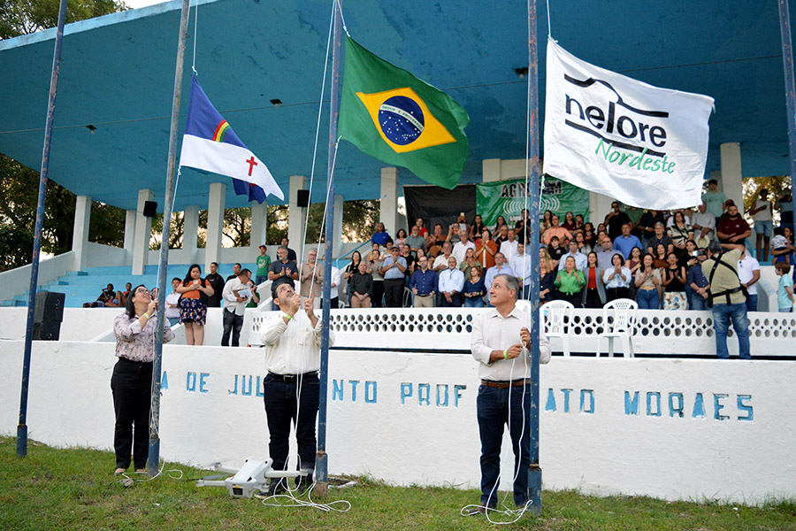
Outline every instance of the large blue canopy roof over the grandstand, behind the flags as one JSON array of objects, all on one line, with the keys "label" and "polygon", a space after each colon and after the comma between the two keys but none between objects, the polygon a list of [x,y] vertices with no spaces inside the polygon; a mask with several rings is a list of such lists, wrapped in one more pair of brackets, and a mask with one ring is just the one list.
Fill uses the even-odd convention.
[{"label": "large blue canopy roof over the grandstand, behind the flags", "polygon": [[[312,166],[331,3],[199,4],[195,55],[203,89],[287,192],[289,176],[309,175]],[[149,188],[162,211],[180,7],[176,0],[66,27],[50,153],[54,181],[130,210],[138,190]],[[527,84],[515,72],[527,65],[524,0],[363,0],[343,9],[357,42],[445,90],[470,113],[463,182],[481,180],[484,158],[524,158]],[[777,3],[570,0],[553,2],[550,15],[555,39],[579,58],[716,98],[708,171],[719,168],[721,143],[740,142],[745,176],[789,173]],[[194,16],[192,9],[191,34]],[[546,34],[547,12],[539,3],[540,124]],[[48,30],[0,42],[0,152],[35,169],[41,165],[54,36]],[[191,36],[180,135],[193,54]],[[327,142],[325,112],[313,201],[325,196]],[[341,142],[338,193],[347,200],[378,197],[382,166]],[[184,169],[176,210],[207,204],[212,181],[227,182],[227,207],[246,205],[226,177]],[[402,184],[422,182],[401,173]]]}]

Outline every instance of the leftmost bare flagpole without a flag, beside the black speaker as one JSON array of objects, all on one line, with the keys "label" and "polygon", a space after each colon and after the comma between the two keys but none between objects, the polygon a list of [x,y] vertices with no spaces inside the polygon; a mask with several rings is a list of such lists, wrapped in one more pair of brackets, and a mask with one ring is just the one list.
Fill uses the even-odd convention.
[{"label": "leftmost bare flagpole without a flag, beside the black speaker", "polygon": [[52,75],[50,76],[50,101],[47,104],[47,120],[44,124],[44,149],[42,150],[42,171],[39,173],[39,203],[36,206],[36,229],[34,235],[33,258],[30,264],[30,288],[27,292],[27,327],[25,329],[25,358],[22,362],[22,392],[19,399],[19,425],[17,426],[17,457],[27,456],[27,388],[30,382],[30,353],[33,350],[33,324],[36,306],[36,287],[39,283],[39,253],[42,250],[42,230],[44,227],[44,196],[47,195],[47,173],[50,171],[50,145],[52,143],[52,120],[55,115],[55,98],[58,93],[58,71],[61,67],[61,42],[64,41],[64,22],[66,19],[66,0],[58,7],[58,28],[55,51],[52,54]]}]

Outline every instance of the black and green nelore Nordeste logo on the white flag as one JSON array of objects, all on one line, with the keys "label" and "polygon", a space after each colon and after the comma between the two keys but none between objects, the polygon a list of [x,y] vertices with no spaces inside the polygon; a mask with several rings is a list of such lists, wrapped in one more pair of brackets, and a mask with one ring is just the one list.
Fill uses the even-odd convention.
[{"label": "black and green nelore Nordeste logo on the white flag", "polygon": [[[674,173],[675,162],[666,154],[666,121],[669,112],[646,111],[625,103],[624,98],[608,81],[589,78],[576,80],[566,73],[564,80],[584,89],[587,100],[581,102],[565,94],[565,110],[569,117],[564,123],[598,139],[594,153],[609,163],[627,165],[633,169]],[[601,87],[607,88],[616,101],[603,98]],[[581,99],[584,99],[581,97]]]}]

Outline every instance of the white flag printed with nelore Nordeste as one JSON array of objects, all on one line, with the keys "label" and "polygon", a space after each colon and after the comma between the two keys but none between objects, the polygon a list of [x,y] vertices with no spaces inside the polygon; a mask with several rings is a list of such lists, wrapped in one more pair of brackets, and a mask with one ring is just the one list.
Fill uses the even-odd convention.
[{"label": "white flag printed with nelore Nordeste", "polygon": [[624,204],[699,204],[713,98],[659,89],[547,40],[545,173]]}]

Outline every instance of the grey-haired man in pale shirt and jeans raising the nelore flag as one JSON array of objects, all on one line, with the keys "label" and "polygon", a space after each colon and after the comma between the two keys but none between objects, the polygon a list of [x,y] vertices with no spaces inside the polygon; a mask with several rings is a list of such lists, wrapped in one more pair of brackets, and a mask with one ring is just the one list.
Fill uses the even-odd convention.
[{"label": "grey-haired man in pale shirt and jeans raising the nelore flag", "polygon": [[[496,276],[489,289],[494,309],[478,313],[472,320],[472,357],[478,361],[481,378],[476,403],[481,440],[481,511],[497,506],[501,442],[507,423],[511,448],[519,465],[514,468],[514,503],[523,508],[529,499],[532,319],[517,308],[518,289],[514,276]],[[550,343],[543,327],[539,335],[539,360],[547,363]],[[511,416],[507,418],[509,412]]]}]

